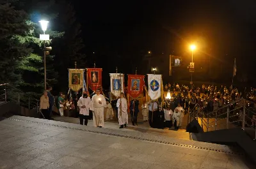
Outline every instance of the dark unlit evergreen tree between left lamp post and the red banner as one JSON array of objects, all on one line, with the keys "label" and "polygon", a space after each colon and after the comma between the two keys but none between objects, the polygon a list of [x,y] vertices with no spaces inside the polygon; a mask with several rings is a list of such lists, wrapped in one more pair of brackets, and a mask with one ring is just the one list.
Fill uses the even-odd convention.
[{"label": "dark unlit evergreen tree between left lamp post and the red banner", "polygon": [[[65,0],[56,1],[58,4],[59,18],[56,26],[65,34],[60,39],[53,40],[55,64],[59,73],[58,87],[65,91],[68,87],[68,68],[85,68],[86,55],[83,54],[84,43],[81,38],[81,25],[77,22],[74,6]],[[56,42],[56,43],[55,43]]]}]

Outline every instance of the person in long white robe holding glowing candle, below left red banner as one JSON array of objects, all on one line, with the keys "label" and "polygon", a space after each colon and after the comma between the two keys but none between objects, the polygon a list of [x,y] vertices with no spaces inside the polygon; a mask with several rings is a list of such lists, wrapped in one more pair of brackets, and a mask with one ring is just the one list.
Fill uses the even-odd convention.
[{"label": "person in long white robe holding glowing candle, below left red banner", "polygon": [[104,107],[106,107],[106,99],[97,89],[96,94],[92,96],[93,126],[104,127]]}]

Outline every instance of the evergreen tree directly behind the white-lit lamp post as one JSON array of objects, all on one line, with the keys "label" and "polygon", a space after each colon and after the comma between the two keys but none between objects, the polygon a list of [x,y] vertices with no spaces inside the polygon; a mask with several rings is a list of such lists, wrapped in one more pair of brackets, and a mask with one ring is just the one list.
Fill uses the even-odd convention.
[{"label": "evergreen tree directly behind the white-lit lamp post", "polygon": [[[27,23],[31,26],[29,34],[23,37],[23,41],[29,43],[29,47],[33,48],[33,53],[24,57],[18,66],[20,75],[22,75],[22,82],[20,89],[30,94],[42,94],[44,89],[44,41],[39,40],[42,29],[39,21],[42,19],[49,20],[49,28],[45,34],[50,34],[50,39],[60,38],[63,32],[52,31],[54,29],[54,20],[58,17],[56,13],[56,4],[54,0],[20,0],[15,4],[17,8],[24,9],[29,13],[29,20]],[[51,41],[46,41],[46,45],[52,45]],[[58,73],[54,70],[54,55],[47,55],[47,84],[56,84]]]}]

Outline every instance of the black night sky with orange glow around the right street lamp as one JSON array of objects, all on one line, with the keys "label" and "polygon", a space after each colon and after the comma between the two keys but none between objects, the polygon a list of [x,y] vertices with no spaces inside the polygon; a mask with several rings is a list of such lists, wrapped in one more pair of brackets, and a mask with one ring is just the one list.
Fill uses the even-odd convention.
[{"label": "black night sky with orange glow around the right street lamp", "polygon": [[220,71],[218,82],[231,82],[236,58],[237,80],[248,78],[246,84],[255,85],[256,1],[244,2],[72,1],[88,67],[95,61],[103,68],[103,82],[109,83],[108,73],[115,73],[116,66],[125,74],[134,74],[136,67],[139,74],[150,73],[142,59],[148,50],[161,60],[154,66],[166,67],[157,73],[175,80],[168,76],[168,55],[182,56],[184,65],[173,72],[181,77],[180,72],[188,74],[189,44],[196,43],[195,80],[206,80],[211,70]]}]

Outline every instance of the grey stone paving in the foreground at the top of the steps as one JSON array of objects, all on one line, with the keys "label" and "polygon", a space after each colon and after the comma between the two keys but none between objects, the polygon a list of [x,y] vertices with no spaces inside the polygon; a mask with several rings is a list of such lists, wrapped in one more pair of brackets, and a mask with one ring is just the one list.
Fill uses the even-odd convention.
[{"label": "grey stone paving in the foreground at the top of the steps", "polygon": [[0,121],[0,168],[255,168],[243,156],[122,136],[228,149],[150,133],[13,116]]}]

